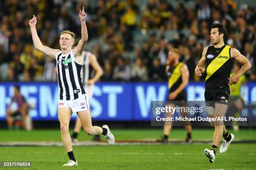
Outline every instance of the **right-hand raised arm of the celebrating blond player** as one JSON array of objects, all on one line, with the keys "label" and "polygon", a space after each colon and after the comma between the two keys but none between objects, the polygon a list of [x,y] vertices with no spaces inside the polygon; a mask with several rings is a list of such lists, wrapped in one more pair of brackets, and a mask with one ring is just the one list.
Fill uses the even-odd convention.
[{"label": "right-hand raised arm of the celebrating blond player", "polygon": [[86,13],[84,13],[84,7],[81,10],[79,10],[79,18],[81,22],[81,40],[79,40],[77,47],[74,48],[73,50],[73,55],[76,58],[76,60],[80,63],[82,63],[82,52],[84,50],[84,47],[86,45],[86,42],[88,40],[88,33],[87,33],[87,28],[85,25],[85,18],[86,18]]}]

